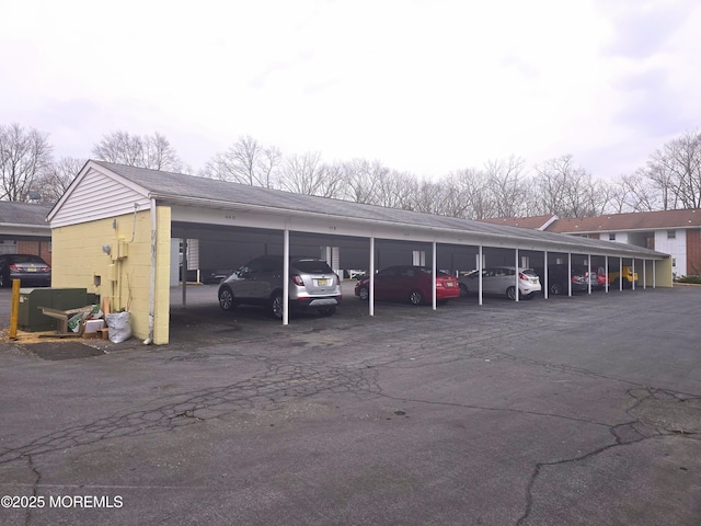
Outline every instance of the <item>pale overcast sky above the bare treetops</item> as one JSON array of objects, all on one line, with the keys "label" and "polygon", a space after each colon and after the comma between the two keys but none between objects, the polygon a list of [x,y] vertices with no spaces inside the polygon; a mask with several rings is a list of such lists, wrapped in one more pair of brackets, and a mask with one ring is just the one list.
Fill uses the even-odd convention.
[{"label": "pale overcast sky above the bare treetops", "polygon": [[701,122],[698,0],[0,0],[0,125],[195,170],[240,136],[439,178],[563,155],[632,173]]}]

